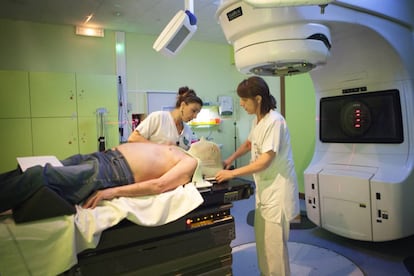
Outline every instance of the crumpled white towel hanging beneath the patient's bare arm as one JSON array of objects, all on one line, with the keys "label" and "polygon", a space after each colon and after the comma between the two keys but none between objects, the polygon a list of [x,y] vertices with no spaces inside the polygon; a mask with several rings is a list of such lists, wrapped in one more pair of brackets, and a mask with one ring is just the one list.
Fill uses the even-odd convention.
[{"label": "crumpled white towel hanging beneath the patient's bare arm", "polygon": [[189,183],[155,196],[105,200],[95,209],[77,206],[75,223],[82,237],[77,247],[80,251],[96,247],[102,231],[124,218],[138,225],[158,226],[188,214],[201,203],[203,197],[195,184]]}]

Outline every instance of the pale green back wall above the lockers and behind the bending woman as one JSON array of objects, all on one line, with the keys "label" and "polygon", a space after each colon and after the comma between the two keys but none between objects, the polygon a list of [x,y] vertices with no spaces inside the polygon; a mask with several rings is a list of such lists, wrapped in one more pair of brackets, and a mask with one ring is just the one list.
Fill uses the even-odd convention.
[{"label": "pale green back wall above the lockers and behind the bending woman", "polygon": [[[0,70],[116,74],[115,32],[104,38],[75,35],[75,27],[27,21],[0,20]],[[236,85],[245,77],[233,64],[229,45],[190,41],[180,54],[167,58],[155,52],[155,36],[125,34],[127,89],[133,91],[177,91],[187,85],[204,101],[232,95],[236,112],[226,118],[211,137],[223,144],[223,157],[247,137],[250,118],[239,112]],[[7,42],[7,43],[5,43]],[[277,90],[278,91],[278,90]],[[278,93],[278,92],[276,92]],[[199,136],[207,136],[201,132]],[[248,161],[246,161],[248,162]]]}]

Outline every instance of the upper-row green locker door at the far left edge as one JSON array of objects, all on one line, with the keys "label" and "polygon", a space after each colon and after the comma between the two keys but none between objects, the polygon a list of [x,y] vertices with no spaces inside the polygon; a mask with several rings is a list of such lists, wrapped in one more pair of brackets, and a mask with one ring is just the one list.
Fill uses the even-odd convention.
[{"label": "upper-row green locker door at the far left edge", "polygon": [[29,117],[29,73],[0,71],[0,118]]}]

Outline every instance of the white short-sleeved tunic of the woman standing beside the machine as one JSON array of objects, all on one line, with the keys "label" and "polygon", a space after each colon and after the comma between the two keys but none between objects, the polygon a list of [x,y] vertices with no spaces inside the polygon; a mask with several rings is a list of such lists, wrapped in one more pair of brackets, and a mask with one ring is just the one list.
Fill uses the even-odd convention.
[{"label": "white short-sleeved tunic of the woman standing beside the machine", "polygon": [[266,220],[280,223],[282,212],[292,220],[299,214],[299,192],[285,119],[277,111],[270,111],[259,123],[255,118],[248,139],[252,161],[269,150],[276,153],[267,169],[253,174],[256,207],[261,207]]}]

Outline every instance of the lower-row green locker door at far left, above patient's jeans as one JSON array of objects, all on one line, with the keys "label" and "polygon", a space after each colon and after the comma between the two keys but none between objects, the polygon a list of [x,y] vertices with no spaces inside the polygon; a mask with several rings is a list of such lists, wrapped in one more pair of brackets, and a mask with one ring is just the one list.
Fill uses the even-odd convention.
[{"label": "lower-row green locker door at far left, above patient's jeans", "polygon": [[0,119],[0,173],[17,167],[16,157],[31,156],[32,132],[30,119]]}]

